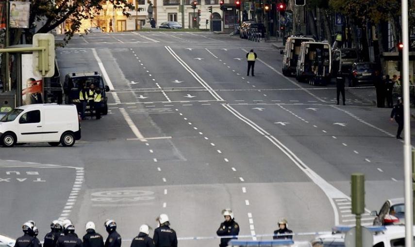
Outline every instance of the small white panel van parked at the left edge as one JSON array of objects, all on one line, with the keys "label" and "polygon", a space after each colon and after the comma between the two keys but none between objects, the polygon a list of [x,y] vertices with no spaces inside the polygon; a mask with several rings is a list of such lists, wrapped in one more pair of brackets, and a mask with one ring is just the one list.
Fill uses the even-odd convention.
[{"label": "small white panel van parked at the left edge", "polygon": [[18,107],[0,120],[0,144],[48,142],[70,147],[81,139],[81,125],[74,105],[33,104]]}]

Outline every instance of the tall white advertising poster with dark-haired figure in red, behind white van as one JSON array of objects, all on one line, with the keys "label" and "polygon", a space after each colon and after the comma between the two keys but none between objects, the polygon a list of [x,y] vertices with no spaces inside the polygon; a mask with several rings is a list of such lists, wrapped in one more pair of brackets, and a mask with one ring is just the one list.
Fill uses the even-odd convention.
[{"label": "tall white advertising poster with dark-haired figure in red, behind white van", "polygon": [[33,54],[22,54],[22,103],[43,103],[43,81],[33,73]]}]

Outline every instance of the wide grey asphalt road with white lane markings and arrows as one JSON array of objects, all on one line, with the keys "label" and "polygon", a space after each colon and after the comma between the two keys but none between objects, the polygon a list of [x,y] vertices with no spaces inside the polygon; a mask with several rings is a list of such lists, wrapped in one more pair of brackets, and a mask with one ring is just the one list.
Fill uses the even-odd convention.
[{"label": "wide grey asphalt road with white lane markings and arrows", "polygon": [[[246,76],[250,48],[255,77]],[[83,121],[72,148],[0,150],[0,218],[9,222],[0,232],[17,237],[33,218],[43,236],[50,220],[69,217],[81,235],[89,220],[104,233],[113,218],[127,240],[167,213],[179,237],[215,236],[226,207],[240,234],[272,233],[282,216],[295,232],[330,231],[354,223],[353,172],[365,173],[368,210],[403,195],[402,143],[389,109],[353,95],[336,106],[334,85],[282,76],[282,56],[267,43],[205,32],[91,33],[57,58],[62,80],[108,74],[109,114]]]}]

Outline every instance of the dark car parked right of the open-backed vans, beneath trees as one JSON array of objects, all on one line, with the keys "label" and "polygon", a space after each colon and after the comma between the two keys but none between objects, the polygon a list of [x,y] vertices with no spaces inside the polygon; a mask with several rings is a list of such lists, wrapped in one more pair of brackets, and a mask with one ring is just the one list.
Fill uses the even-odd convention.
[{"label": "dark car parked right of the open-backed vans, beneath trees", "polygon": [[358,85],[373,85],[375,79],[379,76],[379,69],[373,62],[355,62],[351,67],[349,74],[349,87]]}]

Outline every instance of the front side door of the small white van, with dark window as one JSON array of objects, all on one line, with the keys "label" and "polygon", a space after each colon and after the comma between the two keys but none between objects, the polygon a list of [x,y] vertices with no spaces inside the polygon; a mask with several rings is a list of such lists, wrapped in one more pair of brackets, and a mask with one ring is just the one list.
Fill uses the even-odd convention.
[{"label": "front side door of the small white van, with dark window", "polygon": [[43,141],[42,116],[39,109],[33,109],[23,113],[18,123],[18,142]]}]

